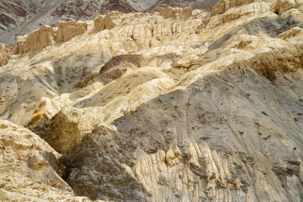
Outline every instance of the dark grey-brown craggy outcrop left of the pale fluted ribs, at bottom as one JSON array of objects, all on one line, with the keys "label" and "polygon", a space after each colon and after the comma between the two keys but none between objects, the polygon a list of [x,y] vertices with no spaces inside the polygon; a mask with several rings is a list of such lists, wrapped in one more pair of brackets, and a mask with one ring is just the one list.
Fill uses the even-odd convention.
[{"label": "dark grey-brown craggy outcrop left of the pale fluted ribs, at bottom", "polygon": [[[118,136],[112,128],[100,124],[93,134],[83,138],[77,150],[73,152],[74,161],[67,182],[78,195],[89,196],[94,200],[145,201],[142,184],[127,166],[131,163],[131,158],[126,152],[117,152],[122,149],[122,145],[112,144],[113,139],[120,139],[119,142],[124,144],[124,147],[127,146],[125,139]],[[94,152],[89,149],[92,146]],[[88,164],[92,166],[87,167]],[[86,182],[82,173],[86,173]],[[87,186],[88,184],[91,186]]]}]

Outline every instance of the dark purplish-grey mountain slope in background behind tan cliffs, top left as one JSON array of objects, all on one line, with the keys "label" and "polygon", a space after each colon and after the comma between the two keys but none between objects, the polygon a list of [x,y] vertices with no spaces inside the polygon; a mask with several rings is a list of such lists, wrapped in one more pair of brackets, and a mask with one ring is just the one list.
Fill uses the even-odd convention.
[{"label": "dark purplish-grey mountain slope in background behind tan cliffs, top left", "polygon": [[63,21],[93,20],[112,11],[142,12],[156,0],[1,0],[0,43],[14,44],[15,38],[43,25],[56,27]]}]

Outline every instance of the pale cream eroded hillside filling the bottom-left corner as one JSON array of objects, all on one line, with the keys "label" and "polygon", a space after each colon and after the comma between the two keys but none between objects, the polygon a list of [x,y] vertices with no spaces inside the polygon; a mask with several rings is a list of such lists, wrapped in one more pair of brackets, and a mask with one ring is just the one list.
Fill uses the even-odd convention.
[{"label": "pale cream eroded hillside filling the bottom-left corner", "polygon": [[[60,177],[65,169],[63,156],[38,135],[9,121],[0,120],[0,148],[2,190],[49,201],[73,196],[71,188]],[[45,195],[45,192],[49,192],[49,195]],[[11,197],[22,199],[20,196]],[[5,200],[5,193],[0,194],[0,200]]]}]

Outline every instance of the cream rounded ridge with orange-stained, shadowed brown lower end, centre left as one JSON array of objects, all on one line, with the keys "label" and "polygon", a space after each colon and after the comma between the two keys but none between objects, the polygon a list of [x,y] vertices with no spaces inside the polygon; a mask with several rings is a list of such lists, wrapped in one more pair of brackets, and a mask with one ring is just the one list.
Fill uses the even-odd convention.
[{"label": "cream rounded ridge with orange-stained, shadowed brown lower end, centre left", "polygon": [[[150,67],[142,67],[141,69],[143,72],[147,72],[147,70],[151,72],[155,71]],[[137,75],[140,74],[138,71],[135,72]],[[50,103],[49,105],[43,104],[41,109],[37,110],[33,115],[32,120],[26,127],[35,131],[36,134],[46,140],[56,151],[69,156],[80,144],[83,136],[92,132],[98,124],[110,124],[124,114],[131,114],[146,101],[155,98],[159,92],[167,91],[173,84],[171,79],[166,75],[161,75],[160,72],[157,73],[157,76],[159,76],[158,80],[147,81],[145,84],[139,85],[131,91],[129,90],[127,96],[117,97],[102,107],[75,108],[71,106],[66,107],[65,105],[65,108],[51,117],[50,114],[52,111],[56,111],[56,109],[51,108],[58,106],[56,106],[55,102],[53,102],[53,106]],[[121,81],[118,79],[116,82],[127,81],[130,78],[132,76],[121,78]],[[109,85],[106,88],[111,89],[115,87],[112,84],[112,86]],[[142,89],[147,90],[141,92]],[[106,92],[108,89],[103,89],[103,91]]]}]

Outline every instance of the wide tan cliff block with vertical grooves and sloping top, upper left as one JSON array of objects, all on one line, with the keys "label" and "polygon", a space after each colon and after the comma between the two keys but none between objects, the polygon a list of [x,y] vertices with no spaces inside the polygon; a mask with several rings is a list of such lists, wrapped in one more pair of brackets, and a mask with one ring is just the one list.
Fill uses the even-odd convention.
[{"label": "wide tan cliff block with vertical grooves and sloping top, upper left", "polygon": [[20,54],[31,50],[38,50],[55,44],[55,29],[43,26],[29,35],[19,36],[16,39],[14,54]]}]

